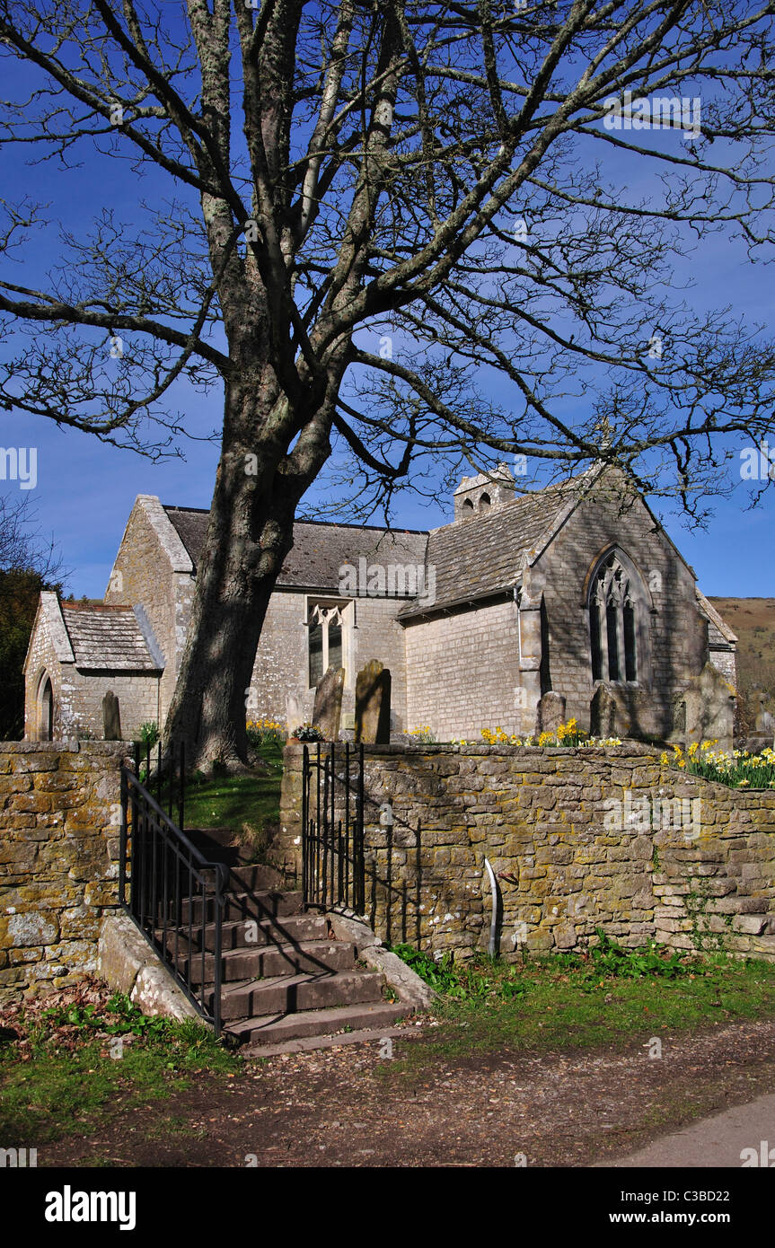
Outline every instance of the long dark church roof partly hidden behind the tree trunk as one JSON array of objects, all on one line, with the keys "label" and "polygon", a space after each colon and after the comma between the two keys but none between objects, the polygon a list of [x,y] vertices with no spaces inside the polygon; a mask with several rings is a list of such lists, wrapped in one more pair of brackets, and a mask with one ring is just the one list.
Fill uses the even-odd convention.
[{"label": "long dark church roof partly hidden behind the tree trunk", "polygon": [[[206,510],[165,507],[171,523],[186,547],[193,568],[198,563],[207,519]],[[428,534],[417,529],[383,529],[371,524],[326,524],[297,520],[293,548],[286,557],[277,584],[296,589],[326,589],[337,593],[339,569],[358,568],[358,559],[381,564],[419,564],[426,562]]]}]

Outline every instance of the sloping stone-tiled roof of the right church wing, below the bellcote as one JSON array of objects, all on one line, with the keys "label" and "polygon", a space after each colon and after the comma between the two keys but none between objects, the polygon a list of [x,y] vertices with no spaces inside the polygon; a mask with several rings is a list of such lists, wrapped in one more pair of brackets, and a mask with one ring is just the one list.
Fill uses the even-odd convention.
[{"label": "sloping stone-tiled roof of the right church wing, below the bellcote", "polygon": [[[582,473],[545,489],[520,494],[484,515],[434,529],[428,538],[428,569],[434,569],[436,597],[428,610],[473,602],[513,589],[525,562],[539,554],[564,508],[579,497]],[[427,583],[432,584],[431,575]],[[406,619],[422,614],[421,604],[399,612]]]}]

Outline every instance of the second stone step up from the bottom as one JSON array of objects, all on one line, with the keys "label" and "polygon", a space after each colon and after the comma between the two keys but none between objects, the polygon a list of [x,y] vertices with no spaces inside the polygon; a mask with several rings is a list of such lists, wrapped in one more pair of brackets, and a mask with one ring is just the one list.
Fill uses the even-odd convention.
[{"label": "second stone step up from the bottom", "polygon": [[[206,993],[207,1008],[212,1008],[212,992]],[[323,971],[317,975],[302,972],[225,985],[221,990],[221,1017],[225,1022],[231,1022],[263,1015],[362,1005],[367,1001],[382,1001],[382,975],[359,970]]]}]

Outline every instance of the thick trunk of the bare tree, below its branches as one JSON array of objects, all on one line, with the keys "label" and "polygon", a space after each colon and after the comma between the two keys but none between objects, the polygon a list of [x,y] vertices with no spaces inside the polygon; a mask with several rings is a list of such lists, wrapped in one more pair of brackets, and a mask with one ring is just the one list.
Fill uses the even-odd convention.
[{"label": "thick trunk of the bare tree, below its branches", "polygon": [[[256,650],[275,582],[293,544],[298,497],[307,484],[278,472],[285,448],[271,442],[267,447],[272,413],[262,418],[255,397],[256,387],[251,394],[245,384],[235,394],[227,386],[210,523],[165,726],[165,745],[183,741],[192,766],[247,760],[246,696]],[[252,437],[236,432],[246,426]]]}]

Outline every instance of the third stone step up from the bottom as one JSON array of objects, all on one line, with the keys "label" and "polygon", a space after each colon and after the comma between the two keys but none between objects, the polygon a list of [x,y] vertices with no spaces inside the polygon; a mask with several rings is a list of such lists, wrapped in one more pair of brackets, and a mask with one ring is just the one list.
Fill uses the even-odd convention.
[{"label": "third stone step up from the bottom", "polygon": [[[225,983],[245,980],[277,978],[285,975],[298,975],[305,971],[349,971],[356,965],[357,946],[348,941],[306,941],[302,946],[280,945],[277,947],[232,948],[223,953],[222,975]],[[191,958],[178,960],[180,973],[190,983],[212,983],[215,980],[215,957],[212,953],[193,953]]]}]

